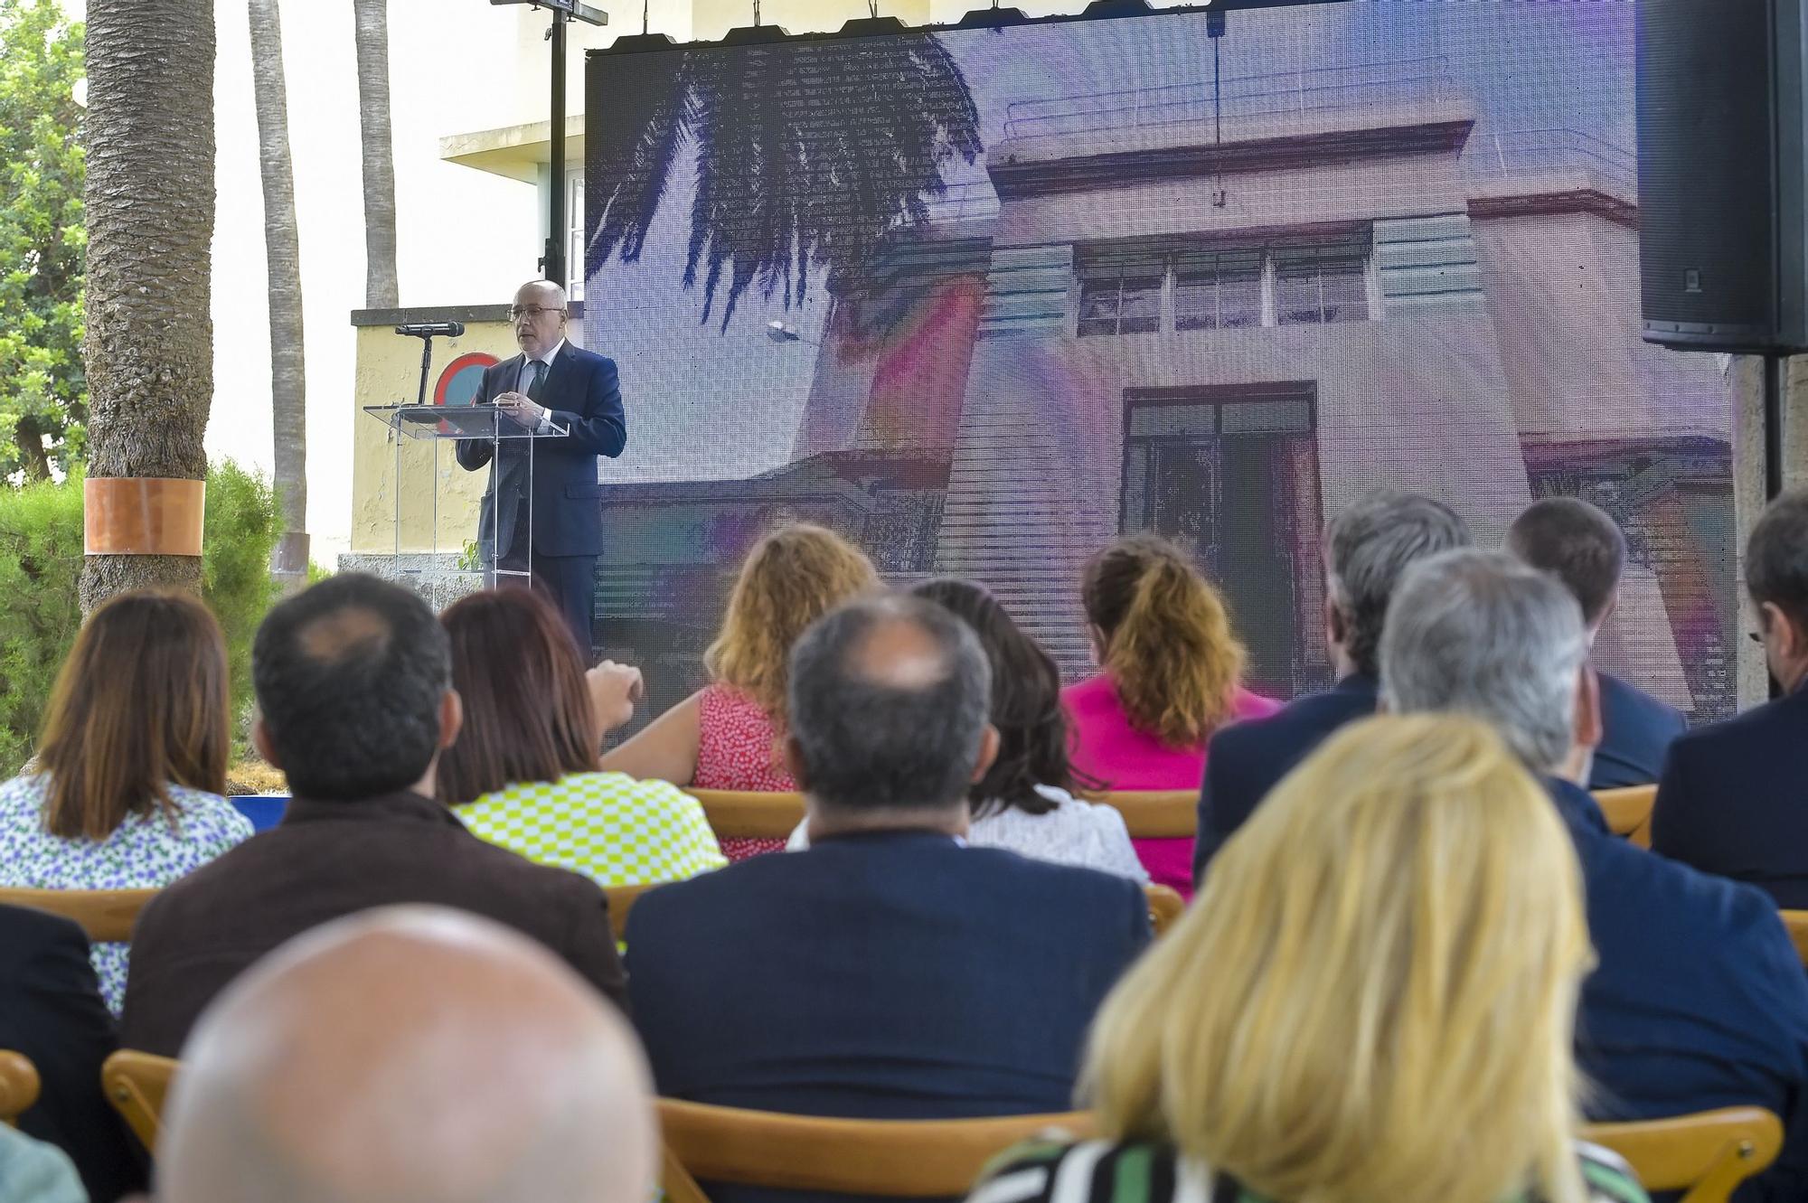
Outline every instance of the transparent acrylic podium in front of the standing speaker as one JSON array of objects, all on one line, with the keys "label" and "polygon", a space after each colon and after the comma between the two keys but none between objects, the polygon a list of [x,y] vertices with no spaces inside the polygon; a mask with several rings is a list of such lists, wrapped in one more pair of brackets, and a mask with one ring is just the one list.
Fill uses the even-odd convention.
[{"label": "transparent acrylic podium in front of the standing speaker", "polygon": [[[495,529],[495,477],[499,475],[501,459],[504,446],[526,444],[524,468],[526,473],[523,482],[521,504],[526,506],[528,517],[528,542],[521,547],[523,565],[532,565],[533,562],[533,452],[544,439],[568,439],[570,430],[562,426],[551,426],[550,430],[528,430],[526,426],[504,417],[501,410],[492,405],[367,405],[363,412],[383,423],[391,430],[391,443],[396,448],[394,464],[394,578],[419,592],[427,598],[428,605],[436,611],[445,609],[452,602],[457,602],[466,592],[476,592],[477,589],[486,589],[499,582],[513,582],[519,585],[532,587],[533,576],[528,567],[504,569],[495,562],[495,546],[485,546],[479,540],[477,529],[459,533],[448,533],[445,538],[439,529],[439,488],[443,479],[443,462],[450,453],[441,453],[447,443],[457,441],[476,441],[488,443],[488,464],[485,468],[472,470],[472,477],[488,471],[490,488],[486,490],[486,500],[490,504],[490,531]],[[407,448],[414,448],[414,453],[405,453]],[[519,452],[510,452],[513,457]],[[412,462],[410,462],[412,461]],[[450,461],[454,468],[463,471],[463,466],[456,459]],[[410,524],[403,517],[403,499],[409,500],[409,508],[414,511],[414,518],[425,517],[425,536],[410,536]],[[479,515],[481,524],[481,515]],[[450,544],[441,549],[441,542]],[[452,565],[445,564],[447,553],[457,551],[457,558]],[[510,547],[510,551],[515,551]],[[515,556],[510,556],[513,560]]]}]

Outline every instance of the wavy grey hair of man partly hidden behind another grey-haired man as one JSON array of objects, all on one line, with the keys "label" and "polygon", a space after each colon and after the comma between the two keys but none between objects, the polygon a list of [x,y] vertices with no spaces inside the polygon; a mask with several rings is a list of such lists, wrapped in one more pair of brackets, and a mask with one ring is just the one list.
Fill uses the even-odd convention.
[{"label": "wavy grey hair of man partly hidden behind another grey-haired man", "polygon": [[1468,547],[1457,513],[1419,493],[1374,490],[1325,524],[1325,589],[1343,616],[1343,650],[1358,672],[1380,672],[1387,603],[1416,560]]}]

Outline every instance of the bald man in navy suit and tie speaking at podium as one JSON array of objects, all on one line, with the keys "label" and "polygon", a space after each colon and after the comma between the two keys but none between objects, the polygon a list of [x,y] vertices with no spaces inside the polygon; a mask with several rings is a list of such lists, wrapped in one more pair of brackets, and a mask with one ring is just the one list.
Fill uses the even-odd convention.
[{"label": "bald man in navy suit and tie speaking at podium", "polygon": [[[515,432],[568,435],[503,441],[477,517],[477,546],[485,565],[532,573],[533,587],[551,592],[589,661],[602,555],[597,457],[620,455],[627,444],[620,376],[615,359],[566,341],[566,296],[557,284],[523,284],[510,316],[521,354],[485,368],[474,405],[494,405]],[[494,450],[488,439],[459,439],[457,462],[476,471]]]}]

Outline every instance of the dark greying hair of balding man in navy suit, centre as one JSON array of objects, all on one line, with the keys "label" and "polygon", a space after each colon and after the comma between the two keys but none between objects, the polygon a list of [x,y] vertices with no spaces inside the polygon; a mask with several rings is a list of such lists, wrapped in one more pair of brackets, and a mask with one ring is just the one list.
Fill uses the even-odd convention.
[{"label": "dark greying hair of balding man in navy suit, centre", "polygon": [[[870,654],[888,625],[926,636],[928,674],[891,674]],[[788,723],[812,802],[841,811],[967,806],[991,708],[978,636],[946,607],[906,594],[830,611],[790,654]]]}]

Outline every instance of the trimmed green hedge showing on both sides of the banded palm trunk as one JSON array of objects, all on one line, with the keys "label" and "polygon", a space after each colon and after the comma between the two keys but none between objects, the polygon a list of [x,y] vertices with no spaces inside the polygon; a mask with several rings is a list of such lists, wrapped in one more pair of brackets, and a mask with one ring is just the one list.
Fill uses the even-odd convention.
[{"label": "trimmed green hedge showing on both sides of the banded palm trunk", "polygon": [[[233,462],[208,471],[202,596],[221,620],[239,733],[251,706],[251,638],[275,600],[282,515],[269,482]],[[31,755],[56,670],[81,623],[81,475],[0,488],[0,775]]]}]

